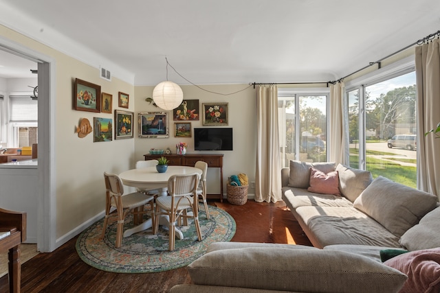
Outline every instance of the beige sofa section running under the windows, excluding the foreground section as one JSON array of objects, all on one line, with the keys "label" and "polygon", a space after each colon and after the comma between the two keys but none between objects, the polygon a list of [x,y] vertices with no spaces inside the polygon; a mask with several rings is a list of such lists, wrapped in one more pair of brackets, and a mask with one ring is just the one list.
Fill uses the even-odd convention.
[{"label": "beige sofa section running under the windows, excluding the foreground section", "polygon": [[[312,192],[311,168],[333,174],[340,195]],[[335,184],[325,181],[318,180],[323,190]],[[410,228],[431,211],[440,220],[437,196],[382,176],[373,180],[370,172],[341,164],[291,161],[282,170],[282,183],[283,200],[317,248],[345,244],[415,250],[408,238],[419,226]],[[430,235],[426,246],[417,249],[438,246],[440,236]]]}]

